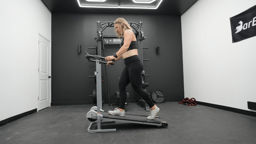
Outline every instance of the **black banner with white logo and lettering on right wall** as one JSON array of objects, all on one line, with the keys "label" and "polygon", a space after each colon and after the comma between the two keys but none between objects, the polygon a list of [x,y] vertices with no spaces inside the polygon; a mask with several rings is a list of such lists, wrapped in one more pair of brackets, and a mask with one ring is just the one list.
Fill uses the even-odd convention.
[{"label": "black banner with white logo and lettering on right wall", "polygon": [[232,43],[256,36],[256,5],[230,18]]}]

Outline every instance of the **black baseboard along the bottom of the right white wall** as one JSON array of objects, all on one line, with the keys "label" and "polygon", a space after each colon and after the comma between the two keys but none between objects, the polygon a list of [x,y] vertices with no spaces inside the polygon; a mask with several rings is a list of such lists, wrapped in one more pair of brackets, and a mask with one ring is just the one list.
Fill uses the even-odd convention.
[{"label": "black baseboard along the bottom of the right white wall", "polygon": [[210,104],[210,103],[201,102],[201,101],[196,101],[196,103],[198,105],[204,105],[204,106],[213,107],[213,108],[217,108],[217,109],[236,112],[238,114],[256,117],[256,112],[253,112],[253,111],[248,111],[248,110],[243,110],[243,109],[238,109],[238,108],[231,108],[231,107],[226,107],[226,106],[221,106],[221,105],[215,105],[215,104]]}]

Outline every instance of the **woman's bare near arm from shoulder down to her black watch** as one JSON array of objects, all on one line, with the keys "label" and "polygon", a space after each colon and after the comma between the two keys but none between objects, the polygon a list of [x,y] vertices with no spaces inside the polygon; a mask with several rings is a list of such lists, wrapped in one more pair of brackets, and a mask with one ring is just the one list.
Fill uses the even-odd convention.
[{"label": "woman's bare near arm from shoulder down to her black watch", "polygon": [[116,52],[116,56],[121,56],[123,53],[125,53],[127,51],[127,49],[129,48],[131,42],[132,42],[132,36],[134,35],[134,33],[132,32],[132,30],[130,29],[126,29],[124,31],[124,45],[119,49],[118,52]]}]

